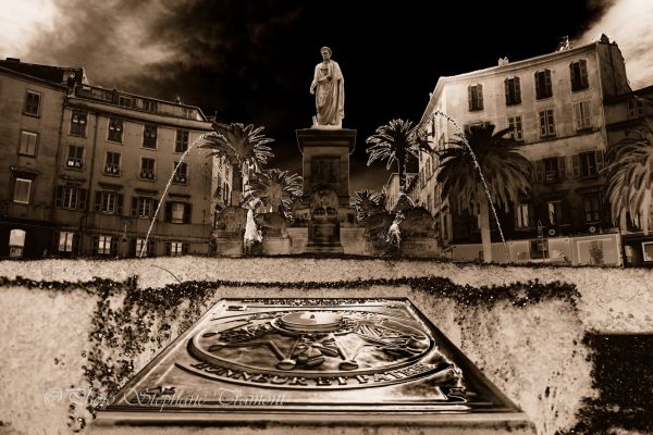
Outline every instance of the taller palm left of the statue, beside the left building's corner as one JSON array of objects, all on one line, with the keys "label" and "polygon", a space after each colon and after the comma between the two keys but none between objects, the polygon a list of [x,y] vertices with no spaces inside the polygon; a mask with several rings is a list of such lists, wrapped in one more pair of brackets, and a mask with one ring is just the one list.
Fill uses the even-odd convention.
[{"label": "taller palm left of the statue, beside the left building's corner", "polygon": [[261,135],[263,127],[255,128],[241,123],[213,123],[213,132],[205,135],[200,148],[211,150],[208,157],[218,156],[235,170],[233,191],[243,192],[243,174],[247,167],[260,172],[268,158],[274,156],[266,144],[274,139]]}]

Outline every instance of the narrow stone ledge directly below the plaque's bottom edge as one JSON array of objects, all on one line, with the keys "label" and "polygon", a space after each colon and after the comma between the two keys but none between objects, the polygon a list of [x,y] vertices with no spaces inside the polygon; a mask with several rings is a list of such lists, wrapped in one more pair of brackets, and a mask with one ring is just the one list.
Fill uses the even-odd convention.
[{"label": "narrow stone ledge directly below the plaque's bottom edge", "polygon": [[[294,435],[534,435],[523,413],[491,414],[205,414],[168,420],[167,414],[102,413],[94,422],[93,435],[123,434],[294,434]],[[125,421],[128,418],[128,421]]]}]

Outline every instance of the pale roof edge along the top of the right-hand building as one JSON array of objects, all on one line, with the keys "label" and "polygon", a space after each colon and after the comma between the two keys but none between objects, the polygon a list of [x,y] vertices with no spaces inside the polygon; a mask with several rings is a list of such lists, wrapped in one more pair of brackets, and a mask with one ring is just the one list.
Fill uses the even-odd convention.
[{"label": "pale roof edge along the top of the right-hand building", "polygon": [[[438,83],[435,84],[435,88],[433,89],[433,92],[431,94],[431,96],[429,98],[429,103],[427,104],[427,109],[422,113],[422,116],[420,117],[419,123],[421,124],[427,121],[428,114],[433,111],[433,105],[435,104],[435,100],[438,99],[438,96],[442,92],[442,88],[443,88],[444,84],[446,84],[446,83],[461,82],[461,80],[472,78],[472,77],[482,77],[482,76],[495,73],[497,71],[510,72],[513,70],[518,70],[528,64],[545,63],[546,61],[554,59],[554,58],[566,58],[566,57],[570,58],[572,55],[578,54],[579,52],[590,51],[591,49],[595,50],[600,44],[617,46],[617,44],[614,41],[613,42],[602,42],[600,40],[596,40],[596,41],[588,42],[583,46],[575,47],[575,48],[571,48],[568,50],[553,51],[551,53],[540,54],[534,58],[528,58],[528,59],[522,59],[520,61],[509,62],[505,65],[490,66],[486,69],[476,70],[476,71],[457,74],[457,75],[441,76],[438,79]],[[618,46],[617,46],[617,48],[618,48]]]}]

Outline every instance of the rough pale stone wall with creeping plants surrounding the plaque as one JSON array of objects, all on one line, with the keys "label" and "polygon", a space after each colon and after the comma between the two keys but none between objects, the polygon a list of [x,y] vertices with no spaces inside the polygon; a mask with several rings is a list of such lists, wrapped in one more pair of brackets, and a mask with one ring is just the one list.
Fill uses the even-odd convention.
[{"label": "rough pale stone wall with creeping plants surrounding the plaque", "polygon": [[[71,388],[93,385],[101,399],[223,297],[408,297],[540,434],[572,427],[582,399],[596,396],[587,333],[653,333],[646,270],[185,257],[8,261],[0,276],[0,434],[86,432],[89,403],[71,403]],[[446,279],[410,279],[427,276]],[[528,284],[508,286],[533,279],[579,296],[555,285],[527,300]]]}]

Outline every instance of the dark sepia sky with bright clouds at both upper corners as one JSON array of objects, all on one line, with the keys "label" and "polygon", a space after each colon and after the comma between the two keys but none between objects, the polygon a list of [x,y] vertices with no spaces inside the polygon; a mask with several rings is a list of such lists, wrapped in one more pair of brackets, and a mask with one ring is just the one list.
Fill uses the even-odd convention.
[{"label": "dark sepia sky with bright clouds at both upper corners", "polygon": [[358,130],[350,190],[380,189],[387,172],[366,170],[365,139],[391,119],[418,121],[440,76],[605,33],[637,89],[653,85],[651,23],[653,0],[0,0],[0,57],[84,66],[95,85],[263,125],[272,165],[299,171],[294,132],[310,126],[312,71],[330,46],[344,126]]}]

